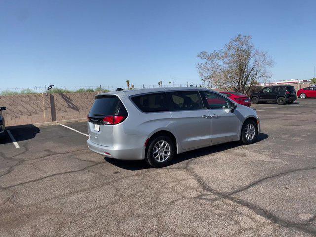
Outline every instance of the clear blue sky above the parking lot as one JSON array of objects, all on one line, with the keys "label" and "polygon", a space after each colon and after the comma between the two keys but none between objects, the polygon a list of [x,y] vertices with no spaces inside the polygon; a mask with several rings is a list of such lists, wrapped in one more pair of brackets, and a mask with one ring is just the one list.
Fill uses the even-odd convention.
[{"label": "clear blue sky above the parking lot", "polygon": [[197,53],[237,34],[310,79],[315,0],[1,0],[0,88],[200,83]]}]

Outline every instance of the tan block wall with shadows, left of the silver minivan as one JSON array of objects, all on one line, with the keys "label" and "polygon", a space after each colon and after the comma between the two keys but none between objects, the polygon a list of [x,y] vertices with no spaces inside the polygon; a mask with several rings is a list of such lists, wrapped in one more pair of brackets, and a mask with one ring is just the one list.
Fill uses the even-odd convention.
[{"label": "tan block wall with shadows, left of the silver minivan", "polygon": [[0,96],[6,126],[86,118],[97,93]]}]

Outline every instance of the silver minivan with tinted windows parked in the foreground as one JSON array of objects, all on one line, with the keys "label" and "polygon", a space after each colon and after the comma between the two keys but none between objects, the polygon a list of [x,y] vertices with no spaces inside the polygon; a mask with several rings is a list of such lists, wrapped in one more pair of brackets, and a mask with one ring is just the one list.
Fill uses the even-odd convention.
[{"label": "silver minivan with tinted windows parked in the foreground", "polygon": [[255,110],[203,88],[123,90],[95,96],[88,147],[116,159],[168,165],[175,154],[260,133]]}]

